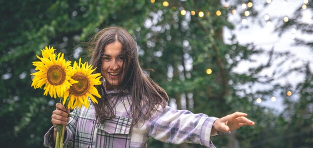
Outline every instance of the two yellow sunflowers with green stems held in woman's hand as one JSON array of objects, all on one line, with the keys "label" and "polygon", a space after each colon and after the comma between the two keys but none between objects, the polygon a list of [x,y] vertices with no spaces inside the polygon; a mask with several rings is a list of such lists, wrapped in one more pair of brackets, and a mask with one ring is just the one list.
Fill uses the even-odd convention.
[{"label": "two yellow sunflowers with green stems held in woman's hand", "polygon": [[[41,49],[42,57],[36,55],[40,61],[32,62],[37,71],[31,73],[31,86],[35,89],[44,85],[43,95],[58,97],[67,109],[80,109],[81,105],[88,108],[88,98],[97,103],[94,96],[100,95],[94,85],[101,84],[101,74],[91,74],[95,68],[92,69],[87,62],[81,63],[81,58],[71,66],[71,61],[66,61],[63,53],[56,54],[54,50],[45,46]],[[56,130],[55,147],[62,147],[65,125],[57,125]]]}]

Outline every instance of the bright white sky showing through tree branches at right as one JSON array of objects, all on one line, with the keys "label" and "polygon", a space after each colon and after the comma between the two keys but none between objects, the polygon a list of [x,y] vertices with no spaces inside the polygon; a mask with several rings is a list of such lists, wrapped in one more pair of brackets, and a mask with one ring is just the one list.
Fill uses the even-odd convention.
[{"label": "bright white sky showing through tree branches at right", "polygon": [[[263,7],[264,3],[265,0],[259,0],[257,3],[253,3],[253,7],[259,11],[258,18],[262,20],[264,26],[257,24],[257,21],[253,22],[253,18],[249,19],[249,17],[247,17],[246,23],[242,24],[242,19],[238,17],[237,13],[229,17],[229,21],[233,22],[234,24],[239,24],[234,30],[232,30],[232,33],[236,34],[238,42],[240,44],[253,42],[257,47],[262,47],[266,50],[273,48],[274,51],[290,51],[291,53],[294,53],[294,59],[297,59],[296,62],[286,60],[282,65],[279,65],[281,70],[287,71],[291,67],[304,65],[304,63],[309,61],[310,69],[313,71],[313,52],[311,52],[308,47],[292,45],[294,42],[294,37],[313,38],[313,35],[301,34],[298,30],[290,29],[279,37],[278,34],[274,32],[274,27],[276,25],[275,21],[267,22],[268,20],[272,20],[270,18],[274,17],[291,17],[295,9],[304,4],[303,0],[272,0],[267,7]],[[241,5],[238,6],[237,11],[240,11],[240,9],[242,10]],[[264,19],[264,15],[266,14],[269,16],[268,20]],[[303,11],[302,21],[312,23],[313,21],[311,14],[311,11],[305,9]],[[240,27],[242,25],[247,25],[248,28],[242,29],[242,27]],[[227,38],[230,38],[230,30],[224,29],[224,40],[227,41]],[[257,62],[255,63],[242,61],[234,70],[239,73],[244,73],[249,67],[254,67],[260,63],[266,62],[265,59],[267,58],[255,57],[255,59],[257,59]],[[277,66],[278,65],[274,65],[272,68],[276,68]],[[262,74],[270,74],[272,70],[273,69],[265,70],[262,72]],[[303,80],[303,75],[299,75],[298,73],[291,73],[289,76],[277,81],[283,84],[288,82],[295,86],[295,84],[301,80]],[[262,87],[264,87],[264,85],[255,86],[256,89],[261,89]],[[273,94],[273,96],[275,96],[275,94]],[[275,101],[271,101],[270,98],[262,98],[262,101],[259,104],[281,111],[283,109],[282,98],[279,96],[275,97]]]}]

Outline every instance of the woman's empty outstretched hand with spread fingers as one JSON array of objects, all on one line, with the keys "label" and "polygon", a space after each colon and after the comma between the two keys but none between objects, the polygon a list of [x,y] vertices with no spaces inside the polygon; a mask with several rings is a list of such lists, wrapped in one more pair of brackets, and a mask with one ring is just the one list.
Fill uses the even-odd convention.
[{"label": "woman's empty outstretched hand with spread fingers", "polygon": [[215,133],[217,131],[228,132],[244,125],[254,125],[254,122],[246,118],[246,116],[247,116],[246,113],[238,111],[223,116],[215,120],[215,122],[213,123],[211,133]]}]

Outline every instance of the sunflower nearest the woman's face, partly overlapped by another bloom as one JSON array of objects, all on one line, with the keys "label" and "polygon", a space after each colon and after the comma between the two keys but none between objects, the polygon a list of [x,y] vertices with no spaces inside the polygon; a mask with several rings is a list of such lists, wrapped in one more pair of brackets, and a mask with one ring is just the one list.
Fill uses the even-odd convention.
[{"label": "sunflower nearest the woman's face, partly overlapped by another bloom", "polygon": [[[67,108],[80,108],[81,105],[88,108],[88,97],[92,100],[92,102],[98,102],[93,95],[97,97],[101,96],[94,85],[101,84],[101,74],[91,74],[94,70],[95,68],[92,69],[92,65],[88,65],[87,62],[81,63],[81,58],[79,58],[78,64],[74,61],[72,68],[73,76],[71,76],[71,78],[77,80],[78,82],[69,87],[69,101]],[[63,102],[63,104],[64,103],[65,102]]]}]

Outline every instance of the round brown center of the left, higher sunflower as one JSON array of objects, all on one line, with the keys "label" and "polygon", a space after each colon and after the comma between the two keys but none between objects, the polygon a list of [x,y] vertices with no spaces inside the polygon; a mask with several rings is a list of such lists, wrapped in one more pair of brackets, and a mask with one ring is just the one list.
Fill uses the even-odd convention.
[{"label": "round brown center of the left, higher sunflower", "polygon": [[52,85],[62,84],[65,80],[65,70],[59,65],[51,66],[46,73],[47,80]]}]

